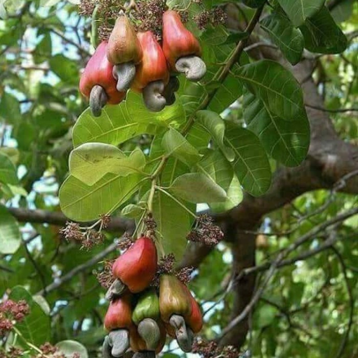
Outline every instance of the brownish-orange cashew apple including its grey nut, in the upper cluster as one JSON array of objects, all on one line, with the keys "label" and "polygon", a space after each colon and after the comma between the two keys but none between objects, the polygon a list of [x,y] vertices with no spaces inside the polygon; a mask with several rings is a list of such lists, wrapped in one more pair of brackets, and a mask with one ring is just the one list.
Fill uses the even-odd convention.
[{"label": "brownish-orange cashew apple including its grey nut, in the upper cluster", "polygon": [[136,30],[128,17],[119,14],[107,47],[108,61],[113,63],[113,76],[117,79],[118,91],[128,89],[136,75],[136,64],[142,60],[142,48]]}]

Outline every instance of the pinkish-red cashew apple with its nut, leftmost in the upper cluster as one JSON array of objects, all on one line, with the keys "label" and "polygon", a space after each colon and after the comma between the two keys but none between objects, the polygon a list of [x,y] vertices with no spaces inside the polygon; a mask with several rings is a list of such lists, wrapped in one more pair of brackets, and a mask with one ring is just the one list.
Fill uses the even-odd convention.
[{"label": "pinkish-red cashew apple with its nut, leftmost in the upper cluster", "polygon": [[124,92],[118,92],[116,80],[113,78],[113,64],[106,56],[107,42],[102,41],[94,55],[89,59],[81,75],[80,91],[89,98],[89,107],[95,117],[101,115],[102,107],[106,104],[118,104],[124,97]]}]

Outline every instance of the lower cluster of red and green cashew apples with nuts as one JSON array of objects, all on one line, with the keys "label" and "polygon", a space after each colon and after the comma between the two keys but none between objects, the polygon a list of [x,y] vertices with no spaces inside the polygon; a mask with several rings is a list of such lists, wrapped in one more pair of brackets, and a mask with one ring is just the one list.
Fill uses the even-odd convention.
[{"label": "lower cluster of red and green cashew apples with nuts", "polygon": [[167,333],[183,351],[191,351],[193,335],[203,325],[200,307],[174,275],[161,275],[159,288],[151,285],[157,261],[155,244],[146,236],[115,261],[116,280],[106,294],[110,303],[104,318],[108,332],[104,358],[119,358],[129,349],[155,356],[163,349]]}]

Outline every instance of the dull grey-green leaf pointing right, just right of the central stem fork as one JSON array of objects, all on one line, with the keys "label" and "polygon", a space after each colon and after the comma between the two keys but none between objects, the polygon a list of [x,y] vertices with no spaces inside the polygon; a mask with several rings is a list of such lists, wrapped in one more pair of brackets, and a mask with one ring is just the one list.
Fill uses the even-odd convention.
[{"label": "dull grey-green leaf pointing right, just right of the central stem fork", "polygon": [[177,177],[170,186],[170,192],[189,203],[222,203],[226,192],[212,178],[202,173],[186,173]]}]

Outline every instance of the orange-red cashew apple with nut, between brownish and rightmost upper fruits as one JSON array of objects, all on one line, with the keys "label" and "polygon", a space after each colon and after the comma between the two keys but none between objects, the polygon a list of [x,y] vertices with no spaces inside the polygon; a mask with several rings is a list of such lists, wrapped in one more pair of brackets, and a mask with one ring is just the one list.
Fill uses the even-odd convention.
[{"label": "orange-red cashew apple with nut, between brownish and rightmost upper fruits", "polygon": [[143,93],[143,100],[149,110],[158,112],[166,105],[163,96],[169,82],[169,71],[163,50],[151,31],[137,35],[143,50],[142,62],[137,66],[132,89]]}]

